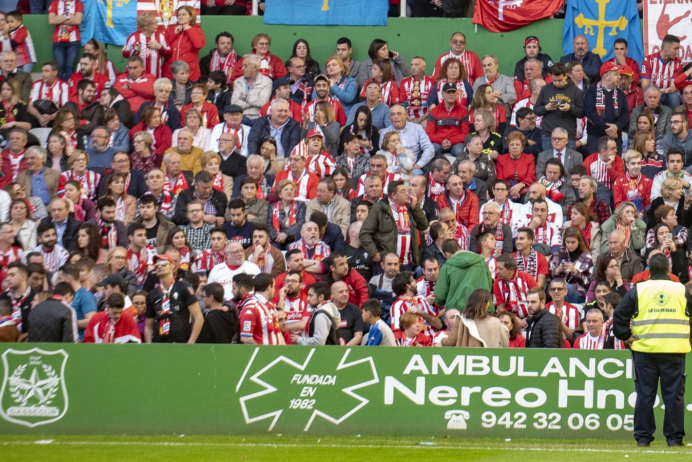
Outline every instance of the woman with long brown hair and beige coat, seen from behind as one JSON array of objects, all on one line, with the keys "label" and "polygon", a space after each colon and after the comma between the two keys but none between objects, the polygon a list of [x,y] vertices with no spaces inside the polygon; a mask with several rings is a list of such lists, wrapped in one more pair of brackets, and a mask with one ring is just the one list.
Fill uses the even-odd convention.
[{"label": "woman with long brown hair and beige coat, seen from behind", "polygon": [[443,347],[509,347],[509,331],[497,317],[490,314],[493,296],[485,289],[473,290],[464,310],[455,315]]}]

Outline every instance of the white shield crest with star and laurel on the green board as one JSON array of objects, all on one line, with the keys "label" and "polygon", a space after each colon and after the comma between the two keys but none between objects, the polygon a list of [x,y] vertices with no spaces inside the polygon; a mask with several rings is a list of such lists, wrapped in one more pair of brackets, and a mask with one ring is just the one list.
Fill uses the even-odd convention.
[{"label": "white shield crest with star and laurel on the green board", "polygon": [[27,427],[60,420],[69,405],[65,385],[68,356],[63,349],[5,351],[0,416]]}]

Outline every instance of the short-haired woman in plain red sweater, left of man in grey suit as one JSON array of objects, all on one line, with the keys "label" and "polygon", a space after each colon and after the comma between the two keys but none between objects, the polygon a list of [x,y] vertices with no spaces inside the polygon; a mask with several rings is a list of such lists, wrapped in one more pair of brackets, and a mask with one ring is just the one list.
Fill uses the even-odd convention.
[{"label": "short-haired woman in plain red sweater, left of man in grey suit", "polygon": [[523,152],[526,137],[520,131],[507,135],[509,154],[498,156],[498,180],[504,180],[511,185],[509,196],[517,200],[529,190],[529,185],[536,181],[536,163],[534,156]]}]

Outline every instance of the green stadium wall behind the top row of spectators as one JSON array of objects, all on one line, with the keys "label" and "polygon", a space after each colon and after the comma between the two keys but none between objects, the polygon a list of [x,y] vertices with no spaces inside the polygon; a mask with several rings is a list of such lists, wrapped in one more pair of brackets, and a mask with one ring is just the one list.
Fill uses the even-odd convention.
[{"label": "green stadium wall behind the top row of spectators", "polygon": [[[40,64],[53,59],[53,26],[48,26],[48,17],[44,15],[26,15],[24,24],[33,37],[40,70]],[[293,42],[303,38],[311,47],[311,55],[320,64],[334,53],[336,40],[349,37],[354,47],[354,57],[358,60],[367,58],[367,47],[374,38],[388,41],[390,50],[401,53],[407,62],[411,57],[421,55],[426,58],[428,74],[432,74],[435,59],[449,50],[449,39],[452,33],[459,30],[466,35],[466,47],[480,57],[491,53],[498,57],[500,72],[514,75],[514,64],[523,56],[524,39],[536,35],[540,39],[543,53],[559,60],[563,55],[563,19],[544,19],[524,28],[509,33],[493,33],[482,27],[475,32],[471,18],[390,18],[388,26],[275,26],[263,24],[262,17],[205,16],[202,28],[206,33],[206,46],[203,54],[214,47],[214,38],[222,30],[228,30],[235,37],[234,48],[238,55],[250,52],[250,41],[255,34],[264,32],[272,38],[271,52],[282,59],[291,56]],[[134,31],[133,31],[134,32]],[[116,69],[125,69],[125,59],[120,53],[120,46],[108,46],[108,57]]]}]

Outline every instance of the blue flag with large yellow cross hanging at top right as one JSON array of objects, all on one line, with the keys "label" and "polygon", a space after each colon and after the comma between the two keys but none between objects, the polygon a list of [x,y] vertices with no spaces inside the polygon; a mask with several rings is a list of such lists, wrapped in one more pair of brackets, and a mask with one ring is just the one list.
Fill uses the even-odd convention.
[{"label": "blue flag with large yellow cross hanging at top right", "polygon": [[563,50],[572,53],[572,41],[585,35],[589,50],[601,56],[601,61],[614,57],[612,46],[616,39],[626,39],[628,57],[641,63],[644,45],[641,40],[637,0],[567,0]]}]

